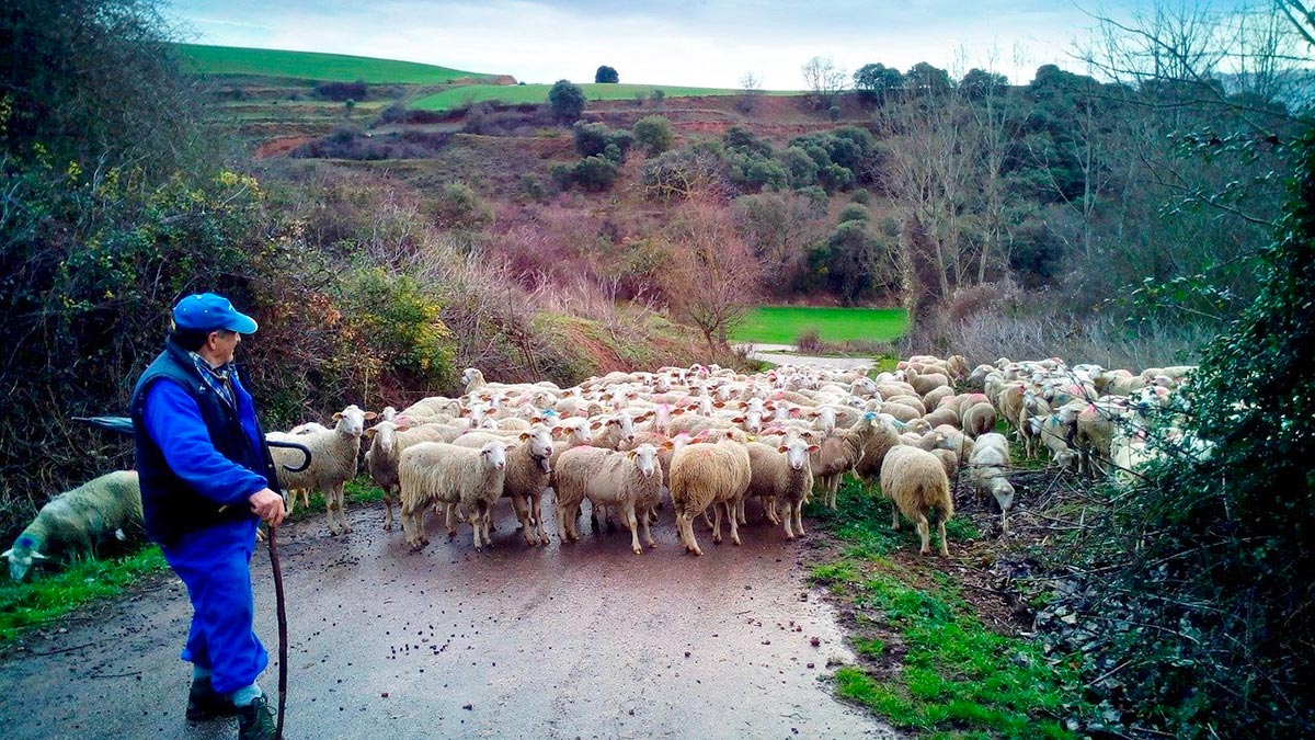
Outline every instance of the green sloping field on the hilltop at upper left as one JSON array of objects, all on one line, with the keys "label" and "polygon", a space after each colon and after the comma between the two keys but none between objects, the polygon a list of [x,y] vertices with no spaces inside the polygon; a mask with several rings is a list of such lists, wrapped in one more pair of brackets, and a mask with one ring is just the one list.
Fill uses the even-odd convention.
[{"label": "green sloping field on the hilltop at upper left", "polygon": [[279,51],[274,49],[239,49],[179,43],[178,51],[195,63],[196,71],[212,75],[259,75],[325,82],[370,84],[442,84],[459,78],[487,78],[484,72],[466,72],[392,59],[317,54],[312,51]]}]

